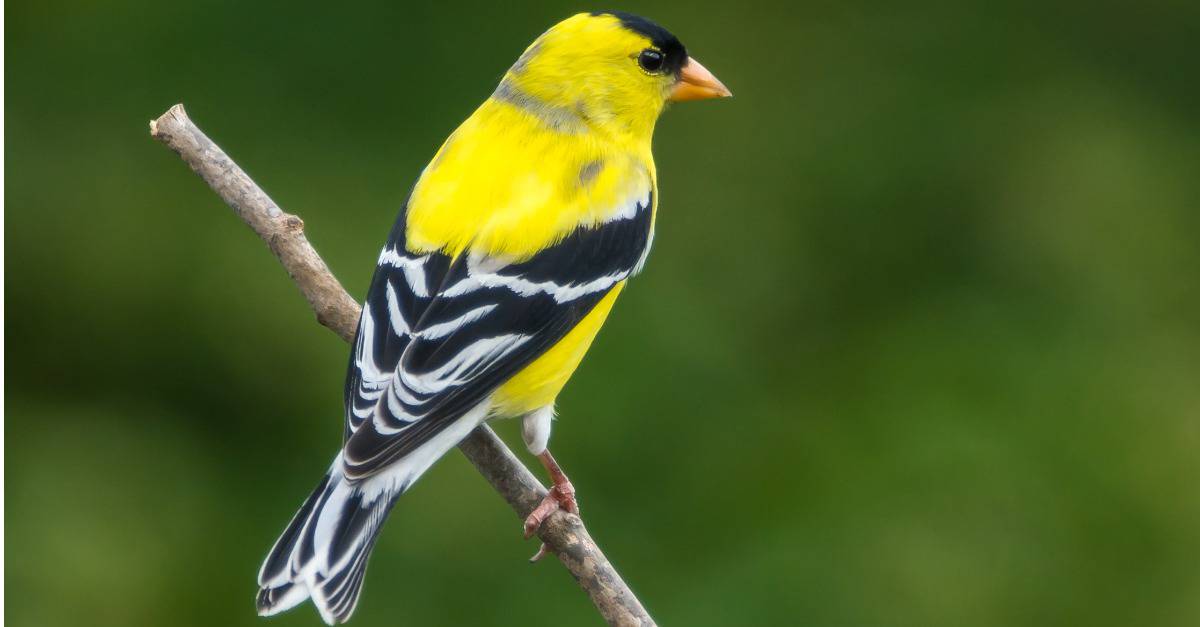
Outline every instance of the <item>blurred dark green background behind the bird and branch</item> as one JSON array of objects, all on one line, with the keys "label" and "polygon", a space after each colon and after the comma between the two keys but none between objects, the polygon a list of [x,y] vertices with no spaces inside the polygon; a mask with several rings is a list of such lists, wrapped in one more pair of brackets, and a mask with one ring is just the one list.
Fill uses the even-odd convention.
[{"label": "blurred dark green background behind the bird and branch", "polygon": [[[347,347],[146,121],[185,102],[361,298],[440,141],[587,8],[6,4],[10,625],[318,625],[254,575]],[[658,620],[1200,623],[1200,5],[620,8],[737,94],[661,120],[654,255],[553,438]],[[450,454],[354,625],[599,623],[520,531]]]}]

